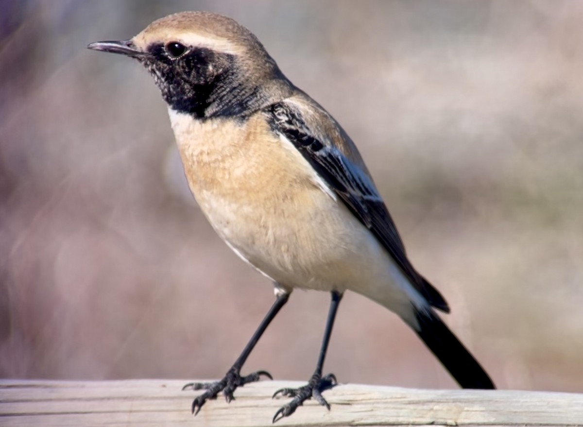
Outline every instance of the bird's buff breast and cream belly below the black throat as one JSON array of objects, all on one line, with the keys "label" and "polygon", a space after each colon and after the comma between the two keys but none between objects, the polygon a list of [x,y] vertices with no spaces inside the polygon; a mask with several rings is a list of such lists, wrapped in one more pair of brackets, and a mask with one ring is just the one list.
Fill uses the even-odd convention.
[{"label": "bird's buff breast and cream belly below the black throat", "polygon": [[[257,114],[245,122],[170,113],[188,184],[216,232],[245,260],[290,287],[353,281],[374,237],[293,146]],[[368,259],[367,259],[368,257]]]}]

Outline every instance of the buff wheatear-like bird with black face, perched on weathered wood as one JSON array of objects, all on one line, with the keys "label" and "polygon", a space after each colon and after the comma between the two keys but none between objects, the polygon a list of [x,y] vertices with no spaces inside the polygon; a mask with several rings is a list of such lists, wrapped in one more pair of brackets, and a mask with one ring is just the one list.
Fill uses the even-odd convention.
[{"label": "buff wheatear-like bird with black face, perched on weathered wood", "polygon": [[[135,58],[152,74],[168,113],[189,187],[217,234],[273,281],[276,300],[226,376],[195,398],[195,414],[221,391],[265,371],[240,370],[294,288],[332,295],[317,366],[273,421],[336,383],[322,366],[346,290],[398,314],[464,388],[494,389],[479,363],[442,323],[441,294],[409,262],[360,154],[319,104],[282,74],[249,30],[229,17],[182,12],[154,21],[131,40],[90,49]],[[274,395],[275,397],[275,395]]]}]

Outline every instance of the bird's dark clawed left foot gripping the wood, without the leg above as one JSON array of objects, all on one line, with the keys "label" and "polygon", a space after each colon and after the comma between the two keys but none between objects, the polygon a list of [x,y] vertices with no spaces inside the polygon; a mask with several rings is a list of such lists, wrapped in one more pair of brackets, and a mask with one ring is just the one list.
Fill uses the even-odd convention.
[{"label": "bird's dark clawed left foot gripping the wood, without the leg above", "polygon": [[225,400],[227,403],[230,403],[231,400],[234,400],[233,392],[237,387],[259,381],[262,375],[268,377],[270,380],[273,379],[271,374],[265,370],[259,370],[242,377],[239,369],[233,367],[229,369],[229,372],[227,372],[224,378],[220,381],[213,383],[188,383],[182,387],[182,390],[205,390],[204,393],[192,401],[192,414],[196,415],[201,410],[202,405],[204,405],[209,399],[216,399],[217,394],[219,394],[220,391],[223,391]]}]

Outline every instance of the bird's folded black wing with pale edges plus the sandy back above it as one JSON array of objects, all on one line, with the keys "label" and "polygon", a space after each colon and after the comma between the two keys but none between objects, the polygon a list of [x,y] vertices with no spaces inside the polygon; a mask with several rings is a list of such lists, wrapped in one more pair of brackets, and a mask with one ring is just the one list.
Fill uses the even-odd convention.
[{"label": "bird's folded black wing with pale edges plus the sandy back above it", "polygon": [[356,146],[336,121],[303,94],[272,104],[265,113],[273,131],[295,146],[353,215],[380,241],[410,283],[432,306],[449,311],[438,290],[409,262],[395,223]]}]

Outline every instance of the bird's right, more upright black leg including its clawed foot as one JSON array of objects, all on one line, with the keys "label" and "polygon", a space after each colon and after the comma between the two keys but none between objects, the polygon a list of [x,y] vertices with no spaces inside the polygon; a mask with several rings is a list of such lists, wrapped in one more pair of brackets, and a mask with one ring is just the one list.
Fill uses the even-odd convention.
[{"label": "bird's right, more upright black leg including its clawed foot", "polygon": [[276,412],[273,416],[273,422],[279,421],[283,417],[289,417],[297,410],[299,406],[303,405],[304,401],[311,397],[317,400],[319,404],[330,410],[330,405],[328,402],[326,402],[325,398],[322,397],[322,391],[331,389],[333,386],[335,386],[336,377],[332,373],[322,377],[322,368],[324,366],[324,359],[326,358],[326,351],[328,350],[330,335],[332,334],[334,318],[336,317],[336,311],[338,310],[338,304],[340,303],[341,299],[342,293],[336,291],[332,292],[332,301],[328,311],[328,320],[326,320],[326,329],[324,331],[322,347],[320,348],[320,355],[318,358],[318,364],[316,365],[316,370],[314,371],[314,375],[312,375],[308,383],[303,387],[299,387],[298,389],[280,389],[276,391],[275,394],[273,394],[273,397],[278,395],[293,397],[290,403],[279,408],[278,412]]}]

